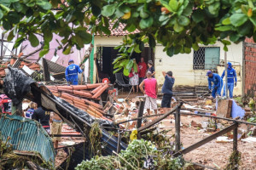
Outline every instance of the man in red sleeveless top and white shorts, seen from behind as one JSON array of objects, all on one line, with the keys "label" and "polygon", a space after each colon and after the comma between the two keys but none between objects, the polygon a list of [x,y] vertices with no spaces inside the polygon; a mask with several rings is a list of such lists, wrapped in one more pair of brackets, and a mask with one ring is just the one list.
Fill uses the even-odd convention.
[{"label": "man in red sleeveless top and white shorts, seen from behind", "polygon": [[150,71],[147,72],[147,78],[140,84],[140,89],[146,97],[145,109],[147,109],[148,115],[150,115],[150,106],[151,109],[154,110],[154,113],[157,114],[157,82],[156,79],[152,77],[152,73]]}]

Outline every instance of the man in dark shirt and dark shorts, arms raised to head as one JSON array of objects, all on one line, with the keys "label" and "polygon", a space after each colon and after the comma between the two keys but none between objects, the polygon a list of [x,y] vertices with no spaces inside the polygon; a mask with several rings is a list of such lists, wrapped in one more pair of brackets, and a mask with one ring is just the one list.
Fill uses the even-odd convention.
[{"label": "man in dark shirt and dark shorts, arms raised to head", "polygon": [[165,71],[162,72],[163,76],[165,77],[165,82],[162,87],[162,94],[164,94],[161,107],[166,111],[170,110],[171,108],[171,100],[172,100],[172,87],[175,82],[174,77],[172,77],[172,71]]}]

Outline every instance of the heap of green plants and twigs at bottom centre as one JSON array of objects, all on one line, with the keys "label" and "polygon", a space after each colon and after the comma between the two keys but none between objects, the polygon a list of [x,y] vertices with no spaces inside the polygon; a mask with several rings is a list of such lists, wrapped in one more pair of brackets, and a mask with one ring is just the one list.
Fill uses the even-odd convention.
[{"label": "heap of green plants and twigs at bottom centre", "polygon": [[113,156],[96,156],[90,161],[82,161],[76,170],[98,169],[181,169],[184,166],[182,157],[172,158],[168,153],[157,150],[147,140],[133,140],[126,150]]}]

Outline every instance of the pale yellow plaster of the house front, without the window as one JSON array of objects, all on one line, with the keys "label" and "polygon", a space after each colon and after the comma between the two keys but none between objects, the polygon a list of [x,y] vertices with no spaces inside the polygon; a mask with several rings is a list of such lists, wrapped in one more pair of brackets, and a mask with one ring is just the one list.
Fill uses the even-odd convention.
[{"label": "pale yellow plaster of the house front, without the window", "polygon": [[[95,50],[96,47],[100,46],[108,46],[115,47],[121,44],[123,37],[95,37]],[[170,40],[172,41],[172,40]],[[204,47],[204,46],[201,46]],[[220,62],[224,62],[224,50],[221,42],[217,42],[214,45],[209,47],[220,47]],[[197,85],[195,82],[195,76],[201,75],[205,82],[202,85],[207,85],[207,77],[205,70],[193,70],[193,50],[190,54],[177,54],[172,57],[169,57],[166,52],[163,52],[163,47],[161,45],[157,45],[155,48],[155,60],[154,66],[156,71],[156,79],[159,84],[163,84],[164,77],[162,76],[162,71],[172,71],[173,77],[175,77],[176,82],[175,85],[188,85],[195,86]],[[236,65],[242,65],[242,43],[235,44],[232,43],[229,46],[229,51],[227,52],[228,61],[236,62]],[[96,68],[96,67],[95,67]],[[241,69],[241,68],[240,68]],[[241,69],[242,71],[242,69]],[[95,71],[96,72],[96,71]],[[219,73],[220,75],[222,74]],[[241,72],[242,75],[242,72]],[[96,75],[94,76],[94,82],[96,80]],[[241,77],[238,78],[239,82],[237,87],[234,90],[235,95],[241,95]]]}]

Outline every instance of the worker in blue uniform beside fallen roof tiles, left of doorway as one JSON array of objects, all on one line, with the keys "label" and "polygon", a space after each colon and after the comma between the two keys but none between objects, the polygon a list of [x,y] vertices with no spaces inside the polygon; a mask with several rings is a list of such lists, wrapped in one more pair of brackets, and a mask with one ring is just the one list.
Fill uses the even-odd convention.
[{"label": "worker in blue uniform beside fallen roof tiles, left of doorway", "polygon": [[69,82],[72,85],[78,85],[79,84],[79,73],[81,73],[81,69],[79,65],[75,65],[73,63],[73,59],[69,59],[68,66],[66,68],[66,79],[67,82]]}]

